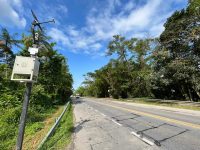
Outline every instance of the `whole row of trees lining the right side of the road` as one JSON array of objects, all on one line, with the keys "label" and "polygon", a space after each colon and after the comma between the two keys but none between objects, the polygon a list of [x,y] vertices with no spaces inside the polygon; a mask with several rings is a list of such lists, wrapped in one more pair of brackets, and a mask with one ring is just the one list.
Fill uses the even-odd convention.
[{"label": "whole row of trees lining the right side of the road", "polygon": [[191,0],[164,24],[159,38],[113,36],[107,65],[89,72],[82,96],[200,100],[200,0]]}]

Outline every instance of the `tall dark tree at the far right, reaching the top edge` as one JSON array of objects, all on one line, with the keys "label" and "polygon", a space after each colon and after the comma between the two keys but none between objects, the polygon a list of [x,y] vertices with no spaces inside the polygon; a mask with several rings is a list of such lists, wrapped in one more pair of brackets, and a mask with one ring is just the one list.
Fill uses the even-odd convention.
[{"label": "tall dark tree at the far right, reaching the top edge", "polygon": [[200,98],[197,2],[199,0],[190,1],[187,9],[176,11],[165,23],[165,31],[160,36],[153,76],[161,78],[154,78],[154,85],[158,90],[171,94],[171,98]]}]

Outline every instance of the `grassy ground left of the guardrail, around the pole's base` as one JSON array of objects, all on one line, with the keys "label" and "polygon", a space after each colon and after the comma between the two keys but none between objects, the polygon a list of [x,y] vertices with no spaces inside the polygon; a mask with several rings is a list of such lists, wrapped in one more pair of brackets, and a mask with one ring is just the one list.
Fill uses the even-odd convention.
[{"label": "grassy ground left of the guardrail, around the pole's base", "polygon": [[[37,112],[29,107],[23,141],[24,150],[36,149],[42,138],[63,110],[63,106],[53,106]],[[0,115],[0,150],[15,149],[18,135],[18,117],[21,106],[1,111]]]}]

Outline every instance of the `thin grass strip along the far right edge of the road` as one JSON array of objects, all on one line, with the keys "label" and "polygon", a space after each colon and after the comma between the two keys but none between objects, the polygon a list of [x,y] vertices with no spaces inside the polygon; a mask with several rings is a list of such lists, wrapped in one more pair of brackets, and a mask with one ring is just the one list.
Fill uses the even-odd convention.
[{"label": "thin grass strip along the far right edge of the road", "polygon": [[[117,100],[117,99],[115,99]],[[133,98],[133,99],[118,99],[117,101],[126,101],[131,103],[141,103],[141,104],[148,104],[148,105],[157,105],[157,106],[166,106],[166,107],[173,107],[173,108],[181,108],[181,109],[189,109],[189,110],[198,110],[200,111],[199,106],[192,106],[192,105],[180,105],[172,101],[155,101],[146,98]]]}]

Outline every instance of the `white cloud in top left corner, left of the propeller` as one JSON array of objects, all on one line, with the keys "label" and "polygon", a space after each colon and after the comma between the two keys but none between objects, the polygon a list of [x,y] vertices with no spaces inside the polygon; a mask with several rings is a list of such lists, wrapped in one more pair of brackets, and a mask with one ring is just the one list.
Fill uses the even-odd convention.
[{"label": "white cloud in top left corner, left of the propeller", "polygon": [[20,15],[23,11],[21,0],[0,0],[0,24],[3,26],[24,28],[26,19]]}]

